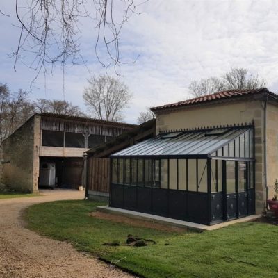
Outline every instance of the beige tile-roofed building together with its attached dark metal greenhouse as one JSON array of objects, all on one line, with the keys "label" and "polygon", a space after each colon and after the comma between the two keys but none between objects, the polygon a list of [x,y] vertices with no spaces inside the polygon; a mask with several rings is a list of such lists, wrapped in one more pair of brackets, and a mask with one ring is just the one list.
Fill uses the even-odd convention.
[{"label": "beige tile-roofed building together with its attached dark metal greenhouse", "polygon": [[229,90],[152,111],[156,137],[111,156],[110,206],[201,224],[265,209],[278,178],[277,95]]}]

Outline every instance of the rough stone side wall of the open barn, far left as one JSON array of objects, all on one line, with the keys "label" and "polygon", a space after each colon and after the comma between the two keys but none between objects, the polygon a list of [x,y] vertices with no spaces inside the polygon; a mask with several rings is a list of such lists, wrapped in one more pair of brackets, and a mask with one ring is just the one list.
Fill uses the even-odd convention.
[{"label": "rough stone side wall of the open barn, far left", "polygon": [[1,183],[17,191],[33,192],[34,118],[1,145]]}]

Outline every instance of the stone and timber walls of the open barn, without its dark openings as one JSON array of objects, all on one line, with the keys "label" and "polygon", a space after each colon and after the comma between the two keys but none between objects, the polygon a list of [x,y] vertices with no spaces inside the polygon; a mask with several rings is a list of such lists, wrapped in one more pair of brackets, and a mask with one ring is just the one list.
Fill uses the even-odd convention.
[{"label": "stone and timber walls of the open barn, without its dark openings", "polygon": [[[0,185],[20,192],[38,192],[40,158],[81,158],[88,151],[84,147],[65,147],[65,133],[102,135],[115,137],[129,129],[132,124],[106,122],[55,114],[33,115],[11,136],[3,140],[0,147]],[[42,146],[42,132],[60,131],[64,135],[63,147]],[[87,134],[84,134],[87,132]],[[70,172],[74,174],[74,172]],[[72,178],[70,178],[72,179]],[[79,184],[81,185],[81,183]]]}]

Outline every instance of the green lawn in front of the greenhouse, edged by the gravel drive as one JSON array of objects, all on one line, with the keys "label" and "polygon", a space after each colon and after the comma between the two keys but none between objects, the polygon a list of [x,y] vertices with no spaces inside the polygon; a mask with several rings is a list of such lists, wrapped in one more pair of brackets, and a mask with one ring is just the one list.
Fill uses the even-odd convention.
[{"label": "green lawn in front of the greenhouse, edged by the gravel drive", "polygon": [[[71,242],[78,250],[142,277],[278,277],[278,227],[256,222],[216,231],[183,234],[131,227],[88,216],[100,203],[63,201],[28,208],[29,227],[44,236]],[[127,234],[156,245],[108,247]]]}]

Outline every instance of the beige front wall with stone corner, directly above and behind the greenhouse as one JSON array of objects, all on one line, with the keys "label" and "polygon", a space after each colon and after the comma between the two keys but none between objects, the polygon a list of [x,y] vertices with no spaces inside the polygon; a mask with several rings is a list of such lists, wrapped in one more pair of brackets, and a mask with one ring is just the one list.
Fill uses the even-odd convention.
[{"label": "beige front wall with stone corner, directly above and behind the greenhouse", "polygon": [[[159,112],[158,115],[156,115],[156,133],[171,129],[192,129],[204,126],[245,124],[254,121],[256,156],[256,213],[261,213],[265,209],[265,201],[267,199],[268,192],[267,185],[264,182],[262,104],[262,101],[259,100],[242,99],[241,101],[238,100],[218,104],[203,104],[200,106],[182,108],[177,111]],[[272,117],[274,116],[272,115]],[[268,131],[268,133],[270,133],[270,131]],[[275,157],[277,158],[278,156],[273,156],[272,160],[275,160]]]}]

